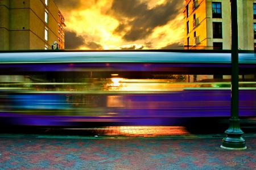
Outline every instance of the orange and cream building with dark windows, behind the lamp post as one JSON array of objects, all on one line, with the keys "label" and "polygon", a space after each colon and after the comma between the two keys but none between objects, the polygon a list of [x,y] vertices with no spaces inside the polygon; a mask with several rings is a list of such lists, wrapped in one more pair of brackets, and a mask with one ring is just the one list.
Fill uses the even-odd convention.
[{"label": "orange and cream building with dark windows, behind the lamp post", "polygon": [[[229,0],[185,0],[184,49],[231,49],[231,6]],[[256,46],[256,1],[239,0],[238,46]]]}]

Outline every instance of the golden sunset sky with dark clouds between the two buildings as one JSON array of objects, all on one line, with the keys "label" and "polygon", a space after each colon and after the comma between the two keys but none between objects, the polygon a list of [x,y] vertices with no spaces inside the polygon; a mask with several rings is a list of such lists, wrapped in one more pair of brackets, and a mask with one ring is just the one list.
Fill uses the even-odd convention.
[{"label": "golden sunset sky with dark clouds between the two buildings", "polygon": [[184,49],[184,0],[54,0],[65,49]]}]

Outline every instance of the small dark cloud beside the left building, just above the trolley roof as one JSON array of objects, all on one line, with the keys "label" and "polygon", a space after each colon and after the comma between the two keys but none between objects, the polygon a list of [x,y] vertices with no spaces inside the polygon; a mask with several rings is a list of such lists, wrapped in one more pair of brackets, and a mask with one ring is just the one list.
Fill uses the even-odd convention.
[{"label": "small dark cloud beside the left building, just above the trolley roof", "polygon": [[75,31],[65,30],[65,49],[78,49],[84,45],[84,38],[77,35]]}]

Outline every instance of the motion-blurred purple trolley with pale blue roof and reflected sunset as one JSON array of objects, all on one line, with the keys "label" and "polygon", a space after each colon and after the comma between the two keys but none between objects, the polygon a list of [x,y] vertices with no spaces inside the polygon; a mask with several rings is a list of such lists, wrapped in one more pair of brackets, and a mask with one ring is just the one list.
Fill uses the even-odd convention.
[{"label": "motion-blurred purple trolley with pale blue roof and reflected sunset", "polygon": [[[256,55],[239,53],[239,116],[256,116]],[[230,50],[0,52],[0,120],[11,125],[170,125],[229,117]]]}]

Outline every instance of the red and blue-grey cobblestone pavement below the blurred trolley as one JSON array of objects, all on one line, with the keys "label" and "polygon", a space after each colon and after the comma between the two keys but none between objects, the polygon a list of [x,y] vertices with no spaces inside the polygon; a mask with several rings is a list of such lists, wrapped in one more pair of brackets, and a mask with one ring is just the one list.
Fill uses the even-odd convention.
[{"label": "red and blue-grey cobblestone pavement below the blurred trolley", "polygon": [[0,134],[0,169],[256,169],[255,134],[244,135],[246,150],[224,150],[223,134],[179,126],[84,130],[92,135]]}]

